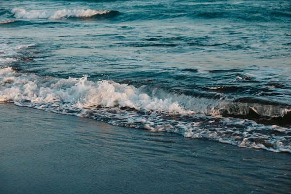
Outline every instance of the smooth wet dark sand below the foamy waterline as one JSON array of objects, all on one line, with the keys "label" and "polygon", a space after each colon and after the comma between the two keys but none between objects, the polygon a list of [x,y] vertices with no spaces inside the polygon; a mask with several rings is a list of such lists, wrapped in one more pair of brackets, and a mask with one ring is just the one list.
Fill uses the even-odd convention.
[{"label": "smooth wet dark sand below the foamy waterline", "polygon": [[0,103],[0,194],[291,193],[291,154]]}]

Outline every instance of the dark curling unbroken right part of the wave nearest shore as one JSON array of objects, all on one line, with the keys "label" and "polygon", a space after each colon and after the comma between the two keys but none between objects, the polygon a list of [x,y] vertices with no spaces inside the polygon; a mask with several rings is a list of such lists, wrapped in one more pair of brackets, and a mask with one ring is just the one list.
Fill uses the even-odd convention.
[{"label": "dark curling unbroken right part of the wave nearest shore", "polygon": [[[142,87],[141,87],[142,88]],[[148,88],[145,91],[154,89]],[[266,100],[258,97],[241,97],[235,95],[222,95],[220,93],[211,92],[214,90],[225,90],[222,87],[212,87],[210,92],[164,92],[162,90],[156,91],[157,97],[171,98],[177,101],[178,104],[185,110],[191,110],[193,113],[211,115],[211,116],[235,116],[254,120],[254,112],[260,119],[269,120],[274,118],[284,118],[291,112],[291,104],[276,102],[274,100]],[[226,91],[235,92],[242,90],[242,87],[226,87]],[[285,117],[285,119],[288,119]],[[288,122],[289,124],[290,121]]]}]

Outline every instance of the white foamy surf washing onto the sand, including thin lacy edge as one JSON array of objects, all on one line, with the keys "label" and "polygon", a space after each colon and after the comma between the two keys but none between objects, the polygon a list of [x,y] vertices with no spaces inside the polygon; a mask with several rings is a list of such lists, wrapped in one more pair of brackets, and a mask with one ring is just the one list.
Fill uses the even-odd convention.
[{"label": "white foamy surf washing onto the sand, including thin lacy edge", "polygon": [[[183,95],[175,97],[171,94],[158,98],[144,93],[142,87],[135,88],[114,81],[94,82],[87,78],[40,77],[18,73],[11,67],[2,68],[0,101],[54,113],[89,117],[116,126],[167,131],[190,138],[291,153],[291,129],[195,113],[195,109],[203,109],[200,103],[202,98]],[[190,98],[192,102],[196,101],[194,109],[178,100],[189,102]],[[257,111],[255,108],[253,110]]]}]

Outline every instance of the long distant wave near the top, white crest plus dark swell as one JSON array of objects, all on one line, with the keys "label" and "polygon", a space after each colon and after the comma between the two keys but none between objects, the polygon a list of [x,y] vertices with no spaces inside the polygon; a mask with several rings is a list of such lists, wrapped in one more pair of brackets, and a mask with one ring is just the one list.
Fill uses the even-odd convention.
[{"label": "long distant wave near the top, white crest plus dark swell", "polygon": [[[253,10],[250,10],[246,13],[238,14],[233,10],[228,10],[226,12],[220,12],[216,8],[211,12],[205,11],[205,6],[194,6],[191,10],[181,6],[179,9],[174,9],[172,12],[161,9],[160,12],[133,12],[126,13],[119,19],[121,21],[133,21],[133,20],[152,20],[152,19],[175,19],[175,18],[189,18],[189,19],[217,19],[217,18],[235,18],[237,20],[246,20],[246,21],[270,21],[270,19],[277,19],[282,22],[286,22],[289,19],[290,14],[284,13],[273,13],[272,15],[275,18],[271,18],[270,15],[264,14],[267,10],[260,10],[262,12],[261,16],[254,14]],[[209,8],[209,7],[207,7]],[[153,7],[154,9],[154,7]],[[186,11],[187,10],[187,11]],[[6,11],[6,10],[4,10]],[[3,11],[4,14],[6,14]],[[91,9],[63,9],[58,11],[49,11],[49,10],[26,10],[23,8],[14,8],[11,10],[11,13],[16,18],[49,18],[49,19],[60,19],[63,17],[92,17],[92,16],[118,16],[120,13],[114,10],[91,10]],[[0,13],[1,15],[1,13]],[[287,18],[286,18],[287,17]]]}]

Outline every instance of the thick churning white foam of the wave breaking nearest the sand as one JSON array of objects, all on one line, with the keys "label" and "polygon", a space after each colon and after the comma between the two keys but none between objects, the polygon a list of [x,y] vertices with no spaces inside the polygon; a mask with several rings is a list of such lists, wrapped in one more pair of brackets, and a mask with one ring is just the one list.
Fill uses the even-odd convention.
[{"label": "thick churning white foam of the wave breaking nearest the sand", "polygon": [[[31,102],[49,103],[55,101],[67,102],[70,106],[88,108],[92,106],[103,107],[129,107],[138,110],[155,110],[177,113],[191,113],[181,108],[172,99],[158,99],[141,93],[137,88],[119,84],[114,81],[88,81],[87,76],[82,78],[53,79],[42,83],[41,78],[35,75],[21,75],[10,67],[1,69],[0,100],[29,100]],[[5,79],[13,78],[6,82]],[[38,82],[39,81],[39,82]]]}]

